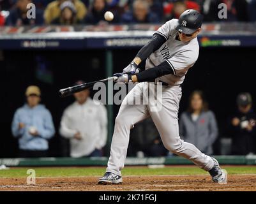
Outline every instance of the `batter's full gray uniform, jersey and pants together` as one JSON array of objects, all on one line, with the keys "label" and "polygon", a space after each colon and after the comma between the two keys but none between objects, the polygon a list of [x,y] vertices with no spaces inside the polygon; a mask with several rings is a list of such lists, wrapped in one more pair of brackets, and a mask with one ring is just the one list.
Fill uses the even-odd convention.
[{"label": "batter's full gray uniform, jersey and pants together", "polygon": [[[195,64],[199,55],[199,44],[197,38],[183,43],[176,40],[178,20],[172,19],[166,22],[156,31],[166,38],[162,47],[153,52],[146,61],[146,69],[158,66],[161,62],[167,61],[174,71],[174,75],[164,75],[156,78],[156,82],[161,80],[167,85],[162,86],[162,99],[159,101],[162,108],[151,111],[154,103],[149,100],[148,105],[129,105],[131,101],[142,98],[143,93],[150,92],[149,82],[141,82],[127,94],[116,117],[116,124],[111,144],[111,152],[107,167],[108,172],[121,175],[124,168],[124,161],[130,138],[130,129],[137,122],[151,117],[163,141],[163,145],[179,156],[190,159],[200,168],[209,171],[213,168],[213,159],[200,152],[191,143],[186,143],[179,136],[178,111],[181,99],[181,84],[189,68]],[[157,85],[156,85],[157,86]]]}]

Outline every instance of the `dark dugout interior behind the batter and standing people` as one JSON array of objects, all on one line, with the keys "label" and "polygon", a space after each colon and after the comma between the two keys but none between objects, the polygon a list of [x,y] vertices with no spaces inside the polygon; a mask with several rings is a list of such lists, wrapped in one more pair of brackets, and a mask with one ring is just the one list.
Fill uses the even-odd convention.
[{"label": "dark dugout interior behind the batter and standing people", "polygon": [[[113,50],[114,73],[120,72],[138,50]],[[236,111],[236,96],[248,91],[256,101],[254,75],[256,48],[201,48],[199,59],[186,75],[180,113],[186,109],[188,96],[195,89],[205,92],[209,108],[216,114],[220,137],[225,133],[227,117]],[[17,156],[17,140],[11,136],[13,113],[25,101],[28,85],[39,85],[42,103],[52,113],[56,130],[64,108],[73,98],[57,96],[60,88],[77,79],[87,81],[105,78],[105,50],[24,51],[3,50],[0,53],[0,157]],[[93,95],[93,93],[92,93]],[[119,106],[114,106],[114,117]],[[218,141],[215,153],[218,154]],[[68,142],[58,133],[50,140],[50,156],[68,156]]]}]

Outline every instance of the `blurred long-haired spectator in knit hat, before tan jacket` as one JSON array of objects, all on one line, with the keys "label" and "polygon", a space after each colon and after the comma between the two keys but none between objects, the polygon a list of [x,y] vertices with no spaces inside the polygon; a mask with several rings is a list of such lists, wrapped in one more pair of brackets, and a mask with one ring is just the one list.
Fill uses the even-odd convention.
[{"label": "blurred long-haired spectator in knit hat, before tan jacket", "polygon": [[50,24],[53,25],[74,25],[79,24],[79,20],[77,20],[77,10],[75,10],[75,5],[72,3],[72,1],[64,1],[61,6],[61,15]]}]

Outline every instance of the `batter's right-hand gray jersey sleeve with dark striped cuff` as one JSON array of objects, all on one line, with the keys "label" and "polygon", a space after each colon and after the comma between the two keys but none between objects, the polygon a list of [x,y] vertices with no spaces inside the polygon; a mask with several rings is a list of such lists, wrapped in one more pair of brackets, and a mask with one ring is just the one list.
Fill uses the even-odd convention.
[{"label": "batter's right-hand gray jersey sleeve with dark striped cuff", "polygon": [[170,67],[174,71],[174,75],[183,76],[186,74],[189,68],[195,64],[198,55],[192,51],[184,51],[180,54],[176,54],[166,61],[169,63]]}]

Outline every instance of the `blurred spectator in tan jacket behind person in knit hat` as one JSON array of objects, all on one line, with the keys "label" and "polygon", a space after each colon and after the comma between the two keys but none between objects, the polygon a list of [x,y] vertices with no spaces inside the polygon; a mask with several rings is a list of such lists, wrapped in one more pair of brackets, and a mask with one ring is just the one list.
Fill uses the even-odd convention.
[{"label": "blurred spectator in tan jacket behind person in knit hat", "polygon": [[[45,8],[44,18],[45,23],[50,24],[52,20],[60,17],[61,15],[61,4],[65,0],[56,0],[52,1],[47,5],[47,8]],[[82,3],[80,0],[70,0],[75,5],[75,10],[77,11],[77,20],[82,21],[84,17],[86,16],[86,6],[84,3]]]}]

